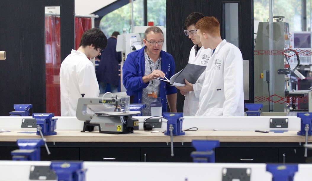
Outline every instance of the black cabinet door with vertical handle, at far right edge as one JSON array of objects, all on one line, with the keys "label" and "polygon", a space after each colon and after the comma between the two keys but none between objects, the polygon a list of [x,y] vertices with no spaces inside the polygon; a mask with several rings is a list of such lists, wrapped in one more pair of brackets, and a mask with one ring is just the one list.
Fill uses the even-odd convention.
[{"label": "black cabinet door with vertical handle, at far right edge", "polygon": [[312,150],[308,150],[305,157],[304,148],[279,148],[279,162],[283,163],[312,163]]}]

